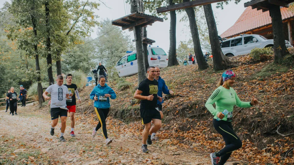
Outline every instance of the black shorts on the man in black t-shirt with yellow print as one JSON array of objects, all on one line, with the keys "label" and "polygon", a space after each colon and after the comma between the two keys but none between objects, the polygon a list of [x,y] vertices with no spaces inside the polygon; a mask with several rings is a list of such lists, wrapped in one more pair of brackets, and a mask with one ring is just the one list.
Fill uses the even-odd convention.
[{"label": "black shorts on the man in black t-shirt with yellow print", "polygon": [[140,116],[141,116],[142,124],[150,123],[151,119],[160,119],[161,120],[160,113],[155,108],[151,108],[151,109],[141,108],[140,109]]}]

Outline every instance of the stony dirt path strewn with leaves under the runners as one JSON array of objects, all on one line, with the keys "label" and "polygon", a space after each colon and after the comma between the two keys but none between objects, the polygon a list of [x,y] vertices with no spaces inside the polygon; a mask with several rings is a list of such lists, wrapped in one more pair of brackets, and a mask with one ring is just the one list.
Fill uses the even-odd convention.
[{"label": "stony dirt path strewn with leaves under the runners", "polygon": [[[128,132],[106,146],[100,131],[92,138],[93,125],[80,122],[76,122],[76,137],[70,137],[69,119],[66,142],[60,142],[60,122],[55,135],[49,133],[49,110],[42,114],[26,106],[19,107],[18,114],[0,111],[0,164],[211,164],[208,153],[171,147],[168,139],[154,142],[148,146],[149,154],[143,154],[139,137]],[[111,138],[116,130],[108,132]]]}]

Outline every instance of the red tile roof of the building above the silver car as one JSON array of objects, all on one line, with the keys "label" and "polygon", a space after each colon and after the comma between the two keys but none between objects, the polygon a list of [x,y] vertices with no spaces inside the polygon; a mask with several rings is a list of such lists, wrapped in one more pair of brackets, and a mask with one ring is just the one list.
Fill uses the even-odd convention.
[{"label": "red tile roof of the building above the silver car", "polygon": [[[294,17],[294,12],[285,7],[281,8],[281,14],[282,20]],[[272,20],[269,11],[262,12],[262,10],[252,9],[251,6],[248,6],[234,25],[220,36],[222,38],[231,37],[271,23]]]}]

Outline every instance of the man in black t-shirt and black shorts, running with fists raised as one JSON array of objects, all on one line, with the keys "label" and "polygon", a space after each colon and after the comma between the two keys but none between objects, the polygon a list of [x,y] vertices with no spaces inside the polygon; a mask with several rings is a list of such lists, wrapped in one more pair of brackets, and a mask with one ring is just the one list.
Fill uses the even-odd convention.
[{"label": "man in black t-shirt and black shorts, running with fists raised", "polygon": [[[162,101],[162,97],[157,95],[158,82],[154,80],[156,75],[155,67],[149,66],[147,68],[148,77],[143,80],[134,94],[134,98],[141,100],[140,115],[142,124],[145,128],[143,130],[143,144],[142,151],[148,153],[147,144],[152,144],[151,134],[158,131],[161,127],[161,116],[157,107],[157,100]],[[151,128],[151,120],[153,127]],[[147,144],[146,144],[147,141]]]}]

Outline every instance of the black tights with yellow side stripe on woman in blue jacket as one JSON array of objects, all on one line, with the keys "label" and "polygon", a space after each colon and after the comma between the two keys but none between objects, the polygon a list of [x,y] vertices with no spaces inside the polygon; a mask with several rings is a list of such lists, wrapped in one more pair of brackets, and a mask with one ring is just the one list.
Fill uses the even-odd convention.
[{"label": "black tights with yellow side stripe on woman in blue jacket", "polygon": [[97,124],[97,127],[96,127],[96,131],[98,131],[99,128],[101,128],[101,123],[102,123],[102,133],[105,137],[105,139],[107,139],[107,131],[106,131],[106,117],[108,115],[108,112],[109,112],[109,108],[107,109],[99,109],[99,108],[96,108],[95,107],[95,112],[97,114],[97,117],[99,119],[99,123]]}]

